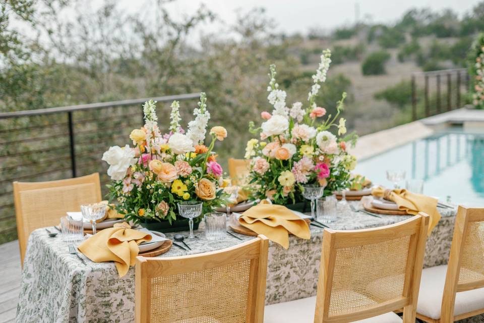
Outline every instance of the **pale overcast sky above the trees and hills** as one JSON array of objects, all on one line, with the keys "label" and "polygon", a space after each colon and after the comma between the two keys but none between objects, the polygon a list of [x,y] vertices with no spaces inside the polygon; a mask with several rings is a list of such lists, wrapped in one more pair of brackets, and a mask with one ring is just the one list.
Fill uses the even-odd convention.
[{"label": "pale overcast sky above the trees and hills", "polygon": [[[103,0],[95,0],[102,3]],[[359,20],[367,22],[394,22],[411,8],[431,8],[441,11],[447,8],[462,15],[470,11],[479,1],[476,0],[177,0],[168,5],[175,16],[193,13],[200,4],[205,4],[226,23],[235,21],[237,9],[249,10],[263,7],[267,15],[275,20],[278,31],[287,34],[307,33],[318,27],[331,30],[335,27],[355,22],[356,8],[359,7]],[[118,0],[120,8],[136,12],[149,4],[149,0]],[[216,27],[212,27],[216,28]]]}]

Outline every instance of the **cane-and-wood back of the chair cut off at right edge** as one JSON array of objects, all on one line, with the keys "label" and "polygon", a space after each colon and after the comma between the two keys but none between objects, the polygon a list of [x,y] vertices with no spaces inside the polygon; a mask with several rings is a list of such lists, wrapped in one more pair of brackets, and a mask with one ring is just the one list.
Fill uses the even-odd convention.
[{"label": "cane-and-wood back of the chair cut off at right edge", "polygon": [[484,288],[484,208],[459,206],[450,249],[444,295],[442,322],[484,313],[482,309],[454,317],[455,294]]}]

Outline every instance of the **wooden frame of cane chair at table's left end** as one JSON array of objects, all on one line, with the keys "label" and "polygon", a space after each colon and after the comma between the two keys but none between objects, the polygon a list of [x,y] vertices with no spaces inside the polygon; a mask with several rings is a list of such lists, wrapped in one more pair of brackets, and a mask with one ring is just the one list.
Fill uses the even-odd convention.
[{"label": "wooden frame of cane chair at table's left end", "polygon": [[[99,181],[99,174],[94,173],[91,175],[86,175],[82,177],[70,178],[65,180],[57,180],[57,181],[50,181],[50,182],[13,182],[13,191],[14,191],[14,204],[15,204],[15,217],[17,220],[17,235],[19,239],[20,245],[20,260],[23,266],[24,263],[24,256],[25,251],[27,249],[27,240],[29,238],[29,234],[25,234],[23,228],[25,225],[25,217],[24,214],[23,204],[21,200],[21,192],[29,191],[29,190],[40,190],[40,189],[47,189],[53,187],[63,187],[63,186],[72,186],[72,185],[80,185],[80,184],[95,184],[95,196],[97,197],[97,202],[101,201],[101,184]],[[48,196],[46,196],[48,198]],[[77,206],[79,208],[79,205]],[[65,210],[73,211],[73,210]],[[59,220],[60,221],[60,220]],[[52,225],[57,225],[58,223],[53,223]]]}]

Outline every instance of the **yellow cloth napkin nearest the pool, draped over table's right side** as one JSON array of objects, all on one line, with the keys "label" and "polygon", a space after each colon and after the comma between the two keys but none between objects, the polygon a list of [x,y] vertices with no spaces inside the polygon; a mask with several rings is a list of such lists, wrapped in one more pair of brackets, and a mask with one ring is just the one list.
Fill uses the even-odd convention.
[{"label": "yellow cloth napkin nearest the pool, draped over table's right side", "polygon": [[408,214],[415,215],[418,212],[429,214],[429,235],[441,218],[437,210],[437,202],[439,200],[434,197],[412,193],[404,189],[386,190],[381,186],[373,188],[372,195],[394,201],[397,203],[398,209],[406,211]]}]

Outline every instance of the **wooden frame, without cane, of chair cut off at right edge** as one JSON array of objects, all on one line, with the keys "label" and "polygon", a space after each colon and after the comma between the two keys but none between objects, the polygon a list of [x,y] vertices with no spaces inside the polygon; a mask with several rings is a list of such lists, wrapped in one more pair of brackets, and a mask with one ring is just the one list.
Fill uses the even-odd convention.
[{"label": "wooden frame, without cane, of chair cut off at right edge", "polygon": [[457,216],[455,218],[454,236],[450,248],[449,263],[447,265],[440,319],[433,319],[418,313],[417,318],[429,323],[447,323],[484,313],[484,308],[482,308],[454,316],[455,294],[457,292],[484,287],[484,279],[468,283],[459,283],[460,265],[469,223],[481,221],[484,221],[484,208],[468,208],[459,205]]}]

